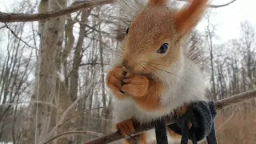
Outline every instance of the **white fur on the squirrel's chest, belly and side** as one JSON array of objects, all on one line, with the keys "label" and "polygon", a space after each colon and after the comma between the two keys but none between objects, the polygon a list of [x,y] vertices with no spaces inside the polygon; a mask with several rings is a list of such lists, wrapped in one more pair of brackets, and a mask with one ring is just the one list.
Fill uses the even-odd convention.
[{"label": "white fur on the squirrel's chest, belly and side", "polygon": [[[133,98],[122,100],[115,99],[114,113],[116,122],[135,118],[138,122],[151,122],[154,119],[170,114],[178,106],[185,102],[206,101],[206,84],[198,66],[194,65],[189,59],[183,59],[182,63],[171,66],[169,71],[176,72],[169,74],[162,72],[166,82],[166,89],[161,96],[160,105],[162,111],[146,112],[136,105]],[[181,66],[182,65],[182,66]],[[115,97],[113,97],[115,98]]]}]

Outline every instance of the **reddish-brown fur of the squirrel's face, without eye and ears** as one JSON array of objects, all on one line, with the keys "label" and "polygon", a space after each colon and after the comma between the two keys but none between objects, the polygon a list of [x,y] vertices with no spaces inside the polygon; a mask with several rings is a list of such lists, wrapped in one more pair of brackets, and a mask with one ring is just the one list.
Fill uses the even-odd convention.
[{"label": "reddish-brown fur of the squirrel's face, without eye and ears", "polygon": [[[158,70],[145,70],[142,66],[148,62],[161,64],[158,68],[164,69],[178,60],[180,49],[175,42],[173,27],[173,15],[165,7],[150,7],[134,18],[130,24],[129,34],[123,42],[122,61],[133,68],[130,71],[154,73]],[[169,43],[169,50],[166,54],[157,54],[156,51],[166,42]]]}]

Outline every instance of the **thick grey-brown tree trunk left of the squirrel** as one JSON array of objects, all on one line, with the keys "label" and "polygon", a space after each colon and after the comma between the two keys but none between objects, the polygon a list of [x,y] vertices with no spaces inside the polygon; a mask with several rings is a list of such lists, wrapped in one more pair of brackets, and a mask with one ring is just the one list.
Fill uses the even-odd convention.
[{"label": "thick grey-brown tree trunk left of the squirrel", "polygon": [[[65,0],[42,0],[38,7],[39,13],[57,11],[66,6]],[[39,22],[40,52],[38,55],[38,69],[32,101],[54,102],[60,53],[65,24],[65,16],[52,18],[46,22]],[[42,103],[30,104],[28,118],[22,132],[20,143],[38,144],[45,140],[50,126],[54,126],[50,119],[52,107]]]}]

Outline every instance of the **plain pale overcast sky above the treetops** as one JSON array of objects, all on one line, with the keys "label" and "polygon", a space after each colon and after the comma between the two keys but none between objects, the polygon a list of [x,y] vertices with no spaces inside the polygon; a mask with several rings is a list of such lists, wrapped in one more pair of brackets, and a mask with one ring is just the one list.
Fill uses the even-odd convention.
[{"label": "plain pale overcast sky above the treetops", "polygon": [[[17,3],[21,0],[0,0],[0,10],[6,11],[12,3]],[[218,5],[231,0],[213,0],[212,4]],[[216,34],[220,38],[219,42],[226,42],[232,38],[238,38],[240,34],[240,23],[248,20],[253,26],[256,26],[256,0],[237,0],[230,6],[225,6],[218,9],[212,9],[210,23],[216,27]],[[10,10],[10,9],[7,9]],[[203,20],[199,25],[199,30],[204,30],[206,20]]]}]

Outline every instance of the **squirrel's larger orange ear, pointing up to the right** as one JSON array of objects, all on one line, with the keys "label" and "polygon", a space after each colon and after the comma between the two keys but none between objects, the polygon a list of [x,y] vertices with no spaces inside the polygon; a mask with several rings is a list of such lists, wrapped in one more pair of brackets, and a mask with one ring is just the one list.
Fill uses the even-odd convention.
[{"label": "squirrel's larger orange ear, pointing up to the right", "polygon": [[179,36],[189,34],[201,20],[207,0],[190,0],[190,5],[174,14],[174,26]]}]

